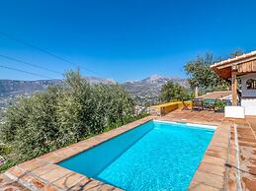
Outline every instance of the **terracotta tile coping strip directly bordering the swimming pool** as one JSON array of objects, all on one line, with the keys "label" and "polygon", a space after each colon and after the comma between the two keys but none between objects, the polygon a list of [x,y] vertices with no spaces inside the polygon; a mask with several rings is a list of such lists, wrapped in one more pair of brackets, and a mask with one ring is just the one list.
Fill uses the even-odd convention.
[{"label": "terracotta tile coping strip directly bordering the swimming pool", "polygon": [[[153,119],[166,121],[161,120],[161,117],[148,116],[109,132],[48,153],[37,159],[20,163],[7,170],[4,174],[31,190],[122,190],[118,187],[61,167],[56,163],[78,155]],[[184,123],[184,121],[182,122]],[[196,123],[191,124],[196,125]],[[217,126],[217,128],[214,131],[213,139],[209,144],[205,157],[201,160],[201,163],[191,181],[190,190],[198,188],[201,184],[207,186],[207,188],[215,188],[215,190],[219,190],[224,187],[224,182],[220,181],[218,176],[223,176],[224,178],[222,167],[224,167],[224,163],[227,158],[223,159],[221,150],[228,149],[228,142],[226,142],[226,139],[228,139],[228,137],[226,137],[227,130],[223,131],[225,128],[218,128],[217,124],[213,125]],[[213,168],[216,168],[216,170],[213,170]]]}]

